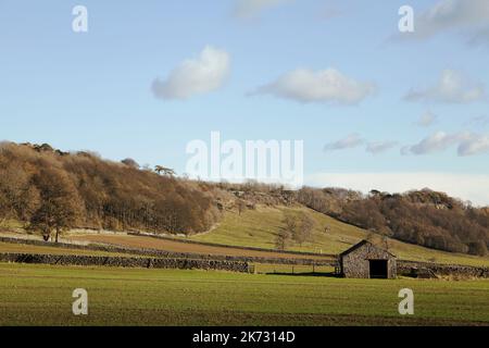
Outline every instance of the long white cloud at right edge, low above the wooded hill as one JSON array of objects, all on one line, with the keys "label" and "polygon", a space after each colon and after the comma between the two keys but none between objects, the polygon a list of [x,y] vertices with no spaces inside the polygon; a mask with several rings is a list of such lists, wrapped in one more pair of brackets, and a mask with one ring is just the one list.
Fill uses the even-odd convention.
[{"label": "long white cloud at right edge, low above the wooded hill", "polygon": [[457,147],[460,157],[485,153],[489,151],[489,136],[472,132],[454,134],[437,132],[416,145],[404,147],[401,152],[403,154],[427,154],[444,151],[452,146]]}]

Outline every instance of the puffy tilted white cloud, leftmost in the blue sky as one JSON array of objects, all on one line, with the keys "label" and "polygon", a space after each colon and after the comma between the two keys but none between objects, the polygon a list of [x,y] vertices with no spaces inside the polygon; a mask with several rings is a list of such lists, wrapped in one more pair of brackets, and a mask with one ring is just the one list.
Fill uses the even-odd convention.
[{"label": "puffy tilted white cloud, leftmost in the blue sky", "polygon": [[152,91],[161,99],[187,99],[218,89],[230,71],[226,51],[206,46],[197,59],[176,66],[165,80],[155,79]]}]

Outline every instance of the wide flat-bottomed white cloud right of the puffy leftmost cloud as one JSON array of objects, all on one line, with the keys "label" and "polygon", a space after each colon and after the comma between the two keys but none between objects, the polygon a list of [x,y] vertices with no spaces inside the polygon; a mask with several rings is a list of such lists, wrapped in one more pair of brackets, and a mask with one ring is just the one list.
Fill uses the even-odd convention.
[{"label": "wide flat-bottomed white cloud right of the puffy leftmost cloud", "polygon": [[336,102],[356,104],[375,91],[372,83],[358,82],[335,69],[311,71],[298,69],[253,94],[273,95],[299,102]]}]

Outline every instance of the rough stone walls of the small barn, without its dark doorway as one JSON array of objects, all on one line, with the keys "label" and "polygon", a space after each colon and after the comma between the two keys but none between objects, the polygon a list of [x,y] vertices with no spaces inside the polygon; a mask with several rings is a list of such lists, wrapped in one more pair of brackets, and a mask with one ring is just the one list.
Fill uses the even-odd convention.
[{"label": "rough stone walls of the small barn, without its dark doorway", "polygon": [[348,278],[369,278],[371,265],[368,260],[388,260],[387,271],[388,278],[396,278],[397,262],[396,258],[389,252],[375,247],[371,244],[365,244],[358,249],[340,257],[341,273]]}]

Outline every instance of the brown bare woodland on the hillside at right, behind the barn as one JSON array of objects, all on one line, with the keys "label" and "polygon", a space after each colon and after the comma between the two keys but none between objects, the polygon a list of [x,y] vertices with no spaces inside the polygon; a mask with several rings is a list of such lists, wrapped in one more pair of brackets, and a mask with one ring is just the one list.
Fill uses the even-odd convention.
[{"label": "brown bare woodland on the hillside at right, behind the barn", "polygon": [[338,188],[302,188],[303,204],[383,236],[452,252],[485,256],[489,211],[429,189],[369,195]]}]

